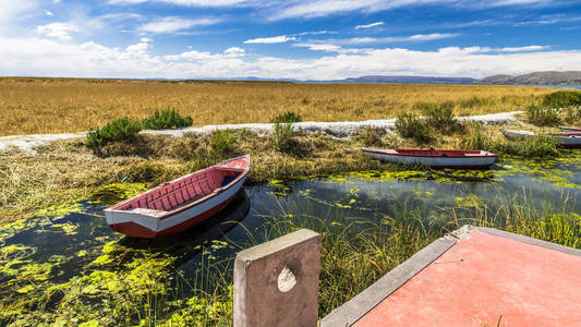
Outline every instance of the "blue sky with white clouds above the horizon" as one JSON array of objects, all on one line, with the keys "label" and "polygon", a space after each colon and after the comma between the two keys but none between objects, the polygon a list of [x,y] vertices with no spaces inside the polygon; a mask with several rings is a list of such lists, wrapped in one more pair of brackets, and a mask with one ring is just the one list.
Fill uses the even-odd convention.
[{"label": "blue sky with white clouds above the horizon", "polygon": [[576,0],[4,0],[0,75],[334,80],[581,70]]}]

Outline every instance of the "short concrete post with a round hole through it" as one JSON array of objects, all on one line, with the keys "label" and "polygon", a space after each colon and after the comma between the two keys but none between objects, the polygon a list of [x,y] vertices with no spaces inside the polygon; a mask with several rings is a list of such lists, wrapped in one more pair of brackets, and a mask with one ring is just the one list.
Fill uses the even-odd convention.
[{"label": "short concrete post with a round hole through it", "polygon": [[317,326],[320,235],[302,229],[234,263],[234,327]]}]

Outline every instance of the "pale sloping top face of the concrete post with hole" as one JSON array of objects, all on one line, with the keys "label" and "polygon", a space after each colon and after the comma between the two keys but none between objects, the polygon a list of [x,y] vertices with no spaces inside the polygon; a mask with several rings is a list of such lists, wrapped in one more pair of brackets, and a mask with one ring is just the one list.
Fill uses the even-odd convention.
[{"label": "pale sloping top face of the concrete post with hole", "polygon": [[312,239],[320,240],[320,234],[308,229],[301,229],[273,241],[268,241],[266,243],[241,251],[237,255],[237,261],[253,262]]}]

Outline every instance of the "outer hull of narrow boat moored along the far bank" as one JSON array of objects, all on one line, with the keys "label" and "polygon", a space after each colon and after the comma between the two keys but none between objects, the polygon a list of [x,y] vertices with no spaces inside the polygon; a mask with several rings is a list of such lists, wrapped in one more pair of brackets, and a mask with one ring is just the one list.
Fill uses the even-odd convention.
[{"label": "outer hull of narrow boat moored along the far bank", "polygon": [[363,149],[371,158],[382,161],[396,162],[402,165],[419,165],[433,168],[453,169],[483,169],[491,167],[496,161],[496,156],[482,157],[433,157],[433,156],[404,156],[389,154],[378,149]]}]

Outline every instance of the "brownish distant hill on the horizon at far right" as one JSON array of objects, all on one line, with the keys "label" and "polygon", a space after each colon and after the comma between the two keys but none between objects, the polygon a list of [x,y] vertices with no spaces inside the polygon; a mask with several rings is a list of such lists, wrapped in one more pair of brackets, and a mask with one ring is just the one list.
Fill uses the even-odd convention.
[{"label": "brownish distant hill on the horizon at far right", "polygon": [[534,72],[525,75],[494,75],[477,81],[479,84],[533,84],[533,85],[581,85],[581,72]]}]

